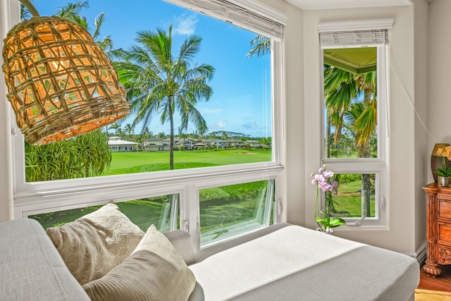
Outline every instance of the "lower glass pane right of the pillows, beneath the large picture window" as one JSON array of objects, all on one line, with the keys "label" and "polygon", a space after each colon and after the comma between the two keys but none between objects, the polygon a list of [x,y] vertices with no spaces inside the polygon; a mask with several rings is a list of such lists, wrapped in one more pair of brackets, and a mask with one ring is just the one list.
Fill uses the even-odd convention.
[{"label": "lower glass pane right of the pillows, beneath the large picture window", "polygon": [[199,191],[201,245],[273,223],[274,180]]}]

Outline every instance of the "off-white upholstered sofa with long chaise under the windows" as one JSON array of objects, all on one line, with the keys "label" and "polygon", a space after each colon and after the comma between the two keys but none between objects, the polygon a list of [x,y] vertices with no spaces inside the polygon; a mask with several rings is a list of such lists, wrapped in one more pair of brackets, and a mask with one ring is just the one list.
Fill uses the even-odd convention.
[{"label": "off-white upholstered sofa with long chaise under the windows", "polygon": [[[193,252],[166,233],[197,285],[190,300],[414,300],[419,264],[397,252],[280,223]],[[44,229],[0,223],[1,300],[89,300]]]}]

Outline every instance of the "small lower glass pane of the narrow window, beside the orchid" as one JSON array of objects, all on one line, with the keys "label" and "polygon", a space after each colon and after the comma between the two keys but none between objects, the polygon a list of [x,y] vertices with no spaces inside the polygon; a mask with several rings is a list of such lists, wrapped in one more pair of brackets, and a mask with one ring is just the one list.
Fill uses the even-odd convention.
[{"label": "small lower glass pane of the narrow window, beside the orchid", "polygon": [[[337,195],[326,195],[330,216],[376,217],[376,175],[374,173],[335,173]],[[331,200],[331,202],[329,201]]]}]

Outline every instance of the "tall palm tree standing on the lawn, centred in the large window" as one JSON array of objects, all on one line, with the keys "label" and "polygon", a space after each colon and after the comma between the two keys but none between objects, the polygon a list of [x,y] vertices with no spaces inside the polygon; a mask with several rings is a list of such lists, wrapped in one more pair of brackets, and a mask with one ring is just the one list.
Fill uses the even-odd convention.
[{"label": "tall palm tree standing on the lawn, centred in the large window", "polygon": [[202,38],[192,35],[185,39],[176,56],[173,55],[172,25],[168,32],[137,33],[140,46],[124,51],[122,61],[116,63],[119,80],[127,90],[135,113],[133,123],[141,121],[150,125],[152,117],[161,113],[160,121],[171,125],[169,144],[169,168],[174,168],[174,119],[175,111],[181,117],[180,129],[191,121],[199,133],[208,130],[206,121],[196,109],[202,100],[208,101],[213,90],[207,81],[214,75],[214,68],[201,64],[191,66],[194,55],[199,52]]}]

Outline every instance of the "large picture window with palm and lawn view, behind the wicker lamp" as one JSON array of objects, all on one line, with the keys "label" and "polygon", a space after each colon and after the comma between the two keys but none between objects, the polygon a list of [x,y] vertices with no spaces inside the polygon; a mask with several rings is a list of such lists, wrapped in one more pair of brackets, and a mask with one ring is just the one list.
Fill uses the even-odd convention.
[{"label": "large picture window with palm and lawn view, behind the wicker lamp", "polygon": [[[238,217],[220,227],[229,231],[221,239],[278,221],[280,212],[272,210],[283,171],[282,125],[276,122],[282,120],[284,101],[283,14],[244,0],[132,0],[126,7],[89,0],[89,9],[77,2],[80,7],[73,11],[60,1],[33,4],[42,16],[60,14],[87,25],[118,70],[132,114],[93,133],[40,147],[14,135],[16,218],[32,216],[57,225],[56,216],[63,223],[115,202],[125,211],[141,208],[129,217],[143,221],[142,228],[147,223],[162,231],[182,228],[199,245],[201,233],[202,243],[215,241],[217,233],[204,236],[212,229],[206,224],[225,225],[211,211],[235,207],[227,202],[212,207],[220,200],[204,199],[207,192],[236,195],[242,185],[259,185],[249,188],[257,195],[246,192],[240,200],[241,212],[230,212]],[[29,18],[26,11],[21,17]],[[146,44],[152,38],[171,42],[166,49],[172,55],[161,68],[185,59],[179,70],[190,71],[152,69],[156,56]],[[138,54],[144,53],[141,61]],[[170,87],[178,89],[164,94]]]}]

